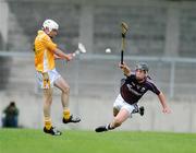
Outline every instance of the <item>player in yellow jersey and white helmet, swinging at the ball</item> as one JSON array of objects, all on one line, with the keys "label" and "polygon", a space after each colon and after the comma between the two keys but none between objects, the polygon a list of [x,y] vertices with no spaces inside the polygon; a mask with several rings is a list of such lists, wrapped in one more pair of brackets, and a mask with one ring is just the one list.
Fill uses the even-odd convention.
[{"label": "player in yellow jersey and white helmet, swinging at the ball", "polygon": [[72,54],[64,54],[58,48],[58,45],[52,42],[52,38],[58,34],[59,25],[53,20],[46,20],[42,24],[42,30],[38,31],[34,43],[35,51],[35,68],[38,85],[44,90],[44,131],[53,136],[60,136],[51,122],[50,107],[52,103],[52,87],[61,90],[61,102],[63,106],[62,121],[79,122],[78,117],[74,118],[69,109],[70,86],[66,81],[57,72],[54,59],[63,59],[70,61],[73,59]]}]

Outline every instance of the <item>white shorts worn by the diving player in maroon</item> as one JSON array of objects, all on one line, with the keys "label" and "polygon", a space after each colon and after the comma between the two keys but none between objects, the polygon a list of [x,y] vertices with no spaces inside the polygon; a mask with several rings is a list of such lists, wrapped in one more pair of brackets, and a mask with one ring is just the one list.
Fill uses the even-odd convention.
[{"label": "white shorts worn by the diving player in maroon", "polygon": [[114,104],[113,104],[113,108],[121,110],[121,109],[126,109],[130,113],[130,117],[132,115],[133,111],[137,111],[138,110],[138,105],[137,104],[128,104],[126,103],[123,97],[121,96],[121,94],[119,94],[119,96],[117,97]]}]

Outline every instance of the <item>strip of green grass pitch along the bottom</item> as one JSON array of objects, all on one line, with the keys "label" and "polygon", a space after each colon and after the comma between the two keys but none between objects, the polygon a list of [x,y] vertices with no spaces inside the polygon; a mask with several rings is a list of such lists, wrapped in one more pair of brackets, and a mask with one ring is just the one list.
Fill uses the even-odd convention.
[{"label": "strip of green grass pitch along the bottom", "polygon": [[0,129],[0,153],[196,153],[196,134]]}]

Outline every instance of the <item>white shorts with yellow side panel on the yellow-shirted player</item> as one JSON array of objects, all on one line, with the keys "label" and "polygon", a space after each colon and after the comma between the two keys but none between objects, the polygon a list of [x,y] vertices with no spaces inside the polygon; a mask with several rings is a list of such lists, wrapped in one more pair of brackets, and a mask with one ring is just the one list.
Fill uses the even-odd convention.
[{"label": "white shorts with yellow side panel on the yellow-shirted player", "polygon": [[50,70],[45,73],[36,71],[36,80],[37,80],[38,87],[40,87],[40,89],[53,87],[54,82],[61,75],[58,73],[58,71],[56,69]]}]

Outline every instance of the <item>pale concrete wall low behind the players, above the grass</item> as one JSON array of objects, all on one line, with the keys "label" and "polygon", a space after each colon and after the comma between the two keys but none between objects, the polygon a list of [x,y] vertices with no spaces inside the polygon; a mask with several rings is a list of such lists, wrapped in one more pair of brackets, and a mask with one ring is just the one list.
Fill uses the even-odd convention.
[{"label": "pale concrete wall low behind the players, above the grass", "polygon": [[[42,99],[40,95],[4,94],[0,93],[0,111],[10,101],[15,101],[20,108],[20,125],[25,128],[42,128]],[[78,115],[82,121],[77,125],[63,125],[60,95],[53,97],[52,120],[60,129],[94,130],[97,126],[106,125],[112,119],[112,105],[115,95],[108,98],[95,97],[71,97],[71,110]],[[196,132],[196,104],[183,102],[169,102],[172,108],[171,115],[161,113],[158,99],[144,101],[139,103],[145,106],[144,117],[134,115],[118,130],[136,131],[172,131],[172,132]]]}]

